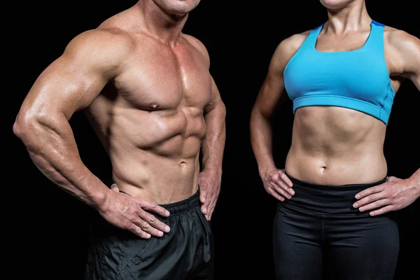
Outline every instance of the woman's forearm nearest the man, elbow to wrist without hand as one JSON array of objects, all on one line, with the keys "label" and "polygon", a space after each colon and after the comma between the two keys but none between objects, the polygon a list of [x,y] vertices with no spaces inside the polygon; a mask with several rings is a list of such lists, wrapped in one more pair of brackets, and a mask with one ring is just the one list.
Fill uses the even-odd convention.
[{"label": "woman's forearm nearest the man, elbow to wrist without hand", "polygon": [[258,163],[258,171],[276,168],[272,155],[272,127],[267,118],[258,109],[251,113],[251,145]]}]

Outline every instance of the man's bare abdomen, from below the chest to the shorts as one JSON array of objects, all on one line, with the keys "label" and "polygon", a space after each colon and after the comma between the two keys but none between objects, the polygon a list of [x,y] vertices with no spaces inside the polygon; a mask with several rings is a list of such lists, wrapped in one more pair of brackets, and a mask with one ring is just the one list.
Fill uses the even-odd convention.
[{"label": "man's bare abdomen, from below the chest to the shorts", "polygon": [[109,153],[120,190],[157,204],[185,200],[197,192],[206,130],[202,111],[101,105],[93,104],[87,116]]}]

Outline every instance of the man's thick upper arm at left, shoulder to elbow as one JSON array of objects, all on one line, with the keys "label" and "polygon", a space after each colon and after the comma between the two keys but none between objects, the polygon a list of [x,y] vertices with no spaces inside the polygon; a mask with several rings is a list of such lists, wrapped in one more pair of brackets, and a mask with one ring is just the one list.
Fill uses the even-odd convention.
[{"label": "man's thick upper arm at left, shoulder to elbow", "polygon": [[62,56],[38,76],[21,111],[30,116],[58,113],[71,118],[117,75],[130,48],[126,38],[107,31],[86,31],[76,36]]}]

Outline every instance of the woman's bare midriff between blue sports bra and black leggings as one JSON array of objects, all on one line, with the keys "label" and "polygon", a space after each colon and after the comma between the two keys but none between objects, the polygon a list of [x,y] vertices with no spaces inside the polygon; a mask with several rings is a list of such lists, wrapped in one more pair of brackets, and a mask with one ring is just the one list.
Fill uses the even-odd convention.
[{"label": "woman's bare midriff between blue sports bra and black leggings", "polygon": [[373,183],[387,173],[386,125],[360,111],[308,106],[295,111],[286,173],[323,185]]}]

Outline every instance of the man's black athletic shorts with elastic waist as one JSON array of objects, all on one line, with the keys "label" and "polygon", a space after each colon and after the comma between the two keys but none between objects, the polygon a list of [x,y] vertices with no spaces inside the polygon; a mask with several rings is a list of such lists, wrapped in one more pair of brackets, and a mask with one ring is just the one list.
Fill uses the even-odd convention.
[{"label": "man's black athletic shorts with elastic waist", "polygon": [[161,206],[171,213],[155,215],[171,228],[163,237],[142,239],[99,216],[92,226],[85,280],[213,279],[213,234],[199,192]]}]

